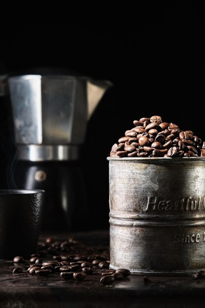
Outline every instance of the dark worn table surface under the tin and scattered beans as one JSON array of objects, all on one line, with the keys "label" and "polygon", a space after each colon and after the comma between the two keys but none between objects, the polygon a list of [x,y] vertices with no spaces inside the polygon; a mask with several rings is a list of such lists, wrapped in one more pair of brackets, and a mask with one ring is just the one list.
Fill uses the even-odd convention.
[{"label": "dark worn table surface under the tin and scattered beans", "polygon": [[[71,234],[57,235],[65,238]],[[109,245],[108,231],[91,231],[72,234],[83,243]],[[40,237],[40,241],[45,235]],[[22,274],[12,274],[12,261],[0,260],[0,307],[10,308],[193,308],[205,306],[205,278],[130,276],[102,285],[99,275],[87,276],[84,281],[62,280],[59,273],[48,277],[27,273],[28,263],[19,265]]]}]

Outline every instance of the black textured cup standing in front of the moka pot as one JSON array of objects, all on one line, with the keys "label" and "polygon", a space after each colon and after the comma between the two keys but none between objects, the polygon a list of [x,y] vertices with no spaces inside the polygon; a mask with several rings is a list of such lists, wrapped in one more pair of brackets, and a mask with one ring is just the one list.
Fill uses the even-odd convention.
[{"label": "black textured cup standing in front of the moka pot", "polygon": [[44,190],[0,190],[0,259],[35,252],[43,210]]}]

